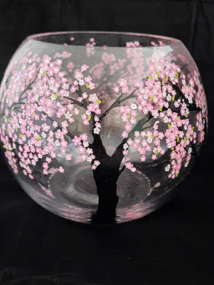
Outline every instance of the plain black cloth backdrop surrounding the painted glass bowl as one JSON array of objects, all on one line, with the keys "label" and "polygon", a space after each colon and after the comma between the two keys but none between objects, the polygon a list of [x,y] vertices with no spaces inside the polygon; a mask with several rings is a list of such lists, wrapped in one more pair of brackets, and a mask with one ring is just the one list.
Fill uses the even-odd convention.
[{"label": "plain black cloth backdrop surrounding the painted glass bowl", "polygon": [[0,77],[27,35],[104,30],[179,38],[208,100],[203,155],[175,198],[142,219],[111,226],[65,220],[37,205],[0,161],[0,284],[214,284],[213,1],[0,1]]}]

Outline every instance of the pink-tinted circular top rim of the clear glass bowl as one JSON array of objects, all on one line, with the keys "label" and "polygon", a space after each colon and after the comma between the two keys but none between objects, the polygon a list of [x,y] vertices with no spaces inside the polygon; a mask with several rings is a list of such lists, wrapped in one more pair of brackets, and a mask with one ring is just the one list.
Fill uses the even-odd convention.
[{"label": "pink-tinted circular top rim of the clear glass bowl", "polygon": [[[81,33],[93,33],[93,34],[123,34],[123,35],[133,35],[133,36],[141,36],[141,37],[151,37],[154,39],[158,40],[167,40],[170,41],[170,44],[165,44],[164,46],[172,46],[173,44],[178,44],[181,43],[180,40],[173,38],[173,37],[167,37],[167,36],[161,36],[161,35],[154,35],[154,34],[146,34],[146,33],[134,33],[134,32],[114,32],[114,31],[57,31],[57,32],[46,32],[46,33],[38,33],[38,34],[33,34],[29,35],[27,37],[27,40],[32,40],[35,42],[40,42],[43,44],[56,44],[56,43],[51,43],[51,42],[43,42],[41,40],[37,40],[37,37],[43,37],[43,36],[48,36],[48,35],[60,35],[60,34],[81,34]],[[63,44],[56,44],[59,46],[63,46]],[[75,46],[75,45],[74,45]],[[79,45],[79,46],[84,46],[84,45]],[[95,46],[96,47],[96,46]],[[150,46],[145,46],[145,48],[149,47],[154,47],[153,45]],[[161,46],[160,46],[161,47]],[[142,47],[144,48],[144,46]]]}]

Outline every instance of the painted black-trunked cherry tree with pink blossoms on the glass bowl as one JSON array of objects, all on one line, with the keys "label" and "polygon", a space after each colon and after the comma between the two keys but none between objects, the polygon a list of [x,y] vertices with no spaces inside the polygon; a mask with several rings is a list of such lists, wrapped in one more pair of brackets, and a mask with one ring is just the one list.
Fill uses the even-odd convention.
[{"label": "painted black-trunked cherry tree with pink blossoms on the glass bowl", "polygon": [[[130,149],[141,162],[149,157],[154,164],[167,153],[169,179],[176,179],[190,159],[198,159],[206,136],[206,98],[198,71],[182,56],[154,53],[145,69],[140,44],[130,42],[125,58],[104,47],[100,62],[90,66],[87,58],[94,55],[94,45],[90,39],[81,64],[74,64],[67,51],[42,57],[28,52],[15,61],[1,89],[0,135],[14,173],[35,181],[53,199],[51,178],[68,173],[63,165],[52,164],[56,166],[59,154],[72,160],[69,145],[76,146],[93,171],[97,222],[111,223],[119,176],[138,171],[129,159]],[[111,155],[102,137],[110,116],[124,126]],[[86,132],[80,133],[80,117]]]}]

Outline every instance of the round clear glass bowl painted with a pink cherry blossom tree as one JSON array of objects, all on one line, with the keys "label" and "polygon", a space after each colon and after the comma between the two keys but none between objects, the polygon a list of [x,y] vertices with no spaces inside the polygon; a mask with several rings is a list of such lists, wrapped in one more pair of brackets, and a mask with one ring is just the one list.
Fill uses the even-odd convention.
[{"label": "round clear glass bowl painted with a pink cherry blossom tree", "polygon": [[167,202],[206,137],[206,97],[186,47],[108,32],[29,36],[0,89],[0,137],[42,207],[83,223],[140,218]]}]

